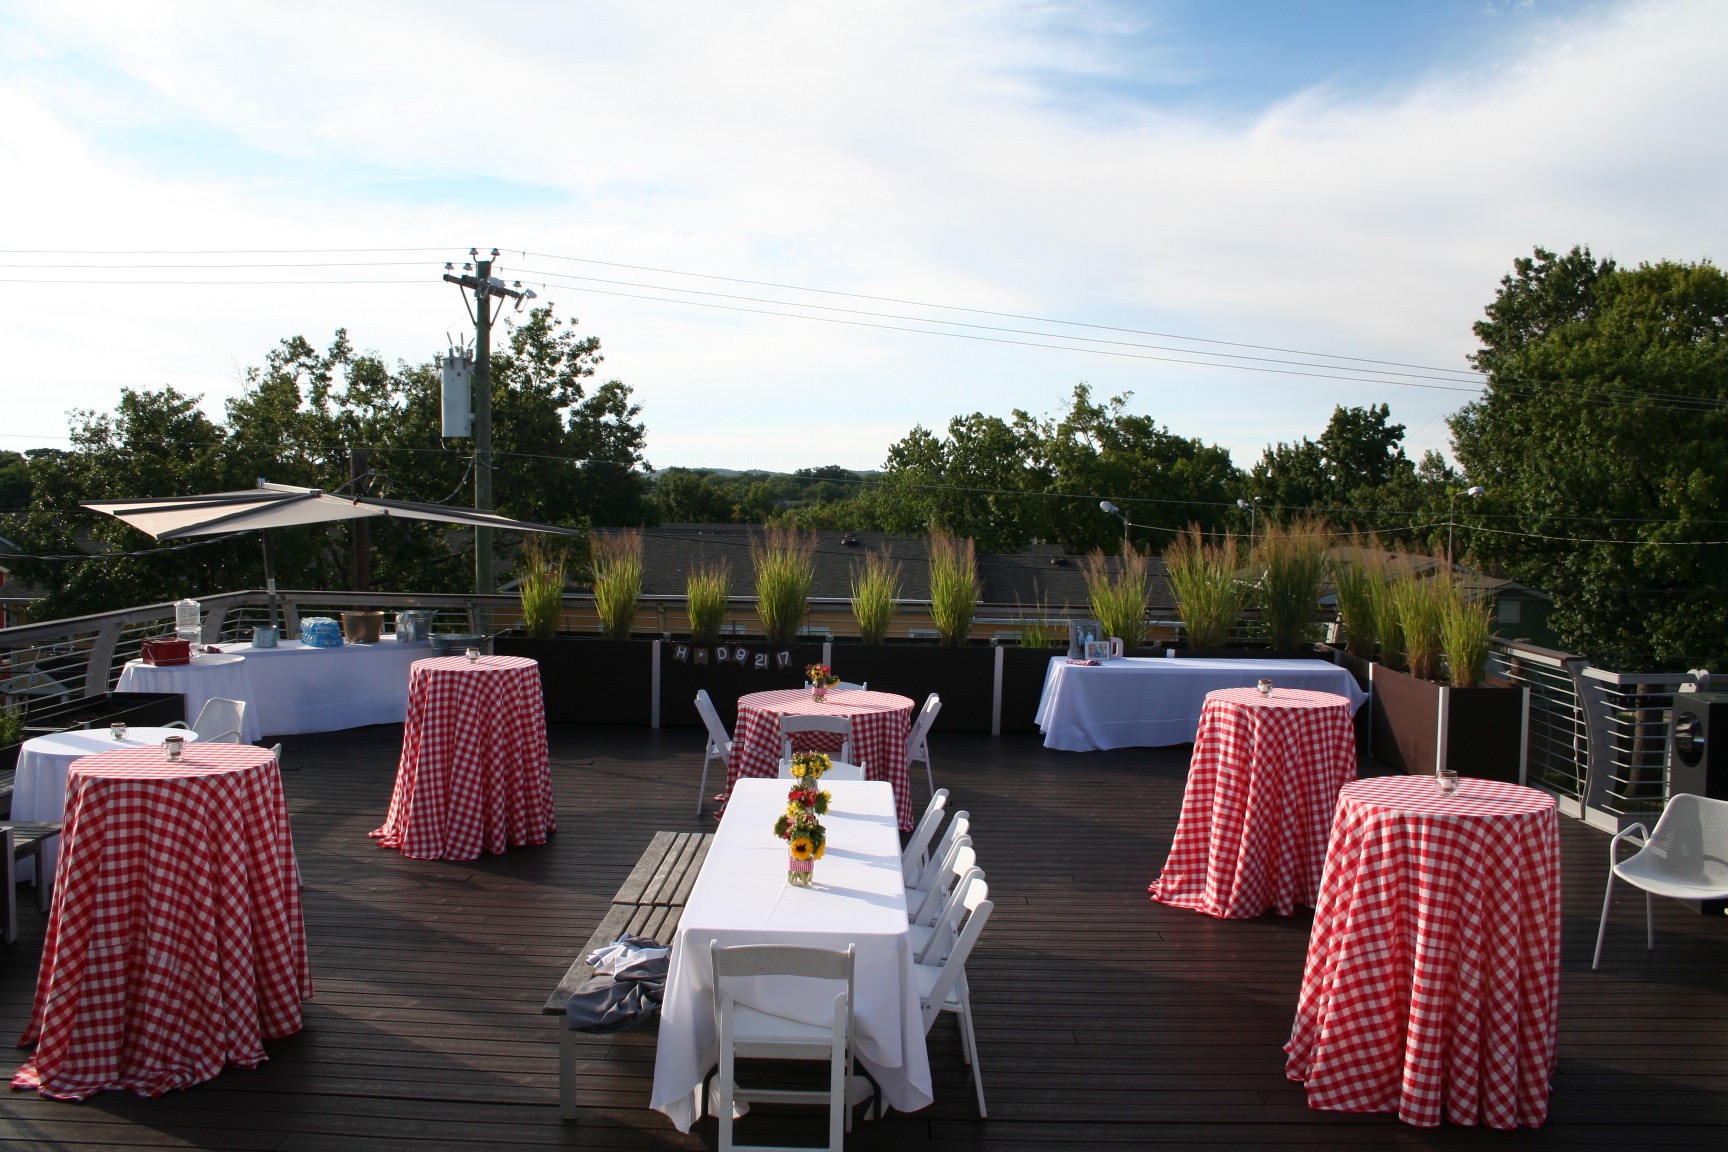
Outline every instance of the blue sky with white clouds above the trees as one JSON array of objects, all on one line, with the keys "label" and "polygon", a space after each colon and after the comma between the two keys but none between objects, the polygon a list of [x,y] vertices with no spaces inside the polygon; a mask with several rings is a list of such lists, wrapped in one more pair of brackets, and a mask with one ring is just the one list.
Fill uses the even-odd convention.
[{"label": "blue sky with white clouds above the trees", "polygon": [[657,466],[880,466],[1078,382],[1242,466],[1334,404],[1445,449],[1514,257],[1719,257],[1723,43],[1704,0],[0,2],[0,447],[219,415],[289,335],[429,359],[496,245]]}]

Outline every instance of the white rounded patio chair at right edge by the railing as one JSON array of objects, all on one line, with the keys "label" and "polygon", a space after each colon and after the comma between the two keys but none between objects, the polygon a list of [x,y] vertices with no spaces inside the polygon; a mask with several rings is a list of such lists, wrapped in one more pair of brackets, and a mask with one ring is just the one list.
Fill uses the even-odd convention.
[{"label": "white rounded patio chair at right edge by the railing", "polygon": [[[1616,848],[1633,834],[1638,836],[1633,843],[1642,846],[1624,860],[1616,860]],[[1674,900],[1728,900],[1728,800],[1680,793],[1668,801],[1655,832],[1633,824],[1609,841],[1609,888],[1602,896],[1602,926],[1597,927],[1591,969],[1602,965],[1602,938],[1609,931],[1616,876],[1643,889],[1645,946],[1655,952],[1652,893]]]}]

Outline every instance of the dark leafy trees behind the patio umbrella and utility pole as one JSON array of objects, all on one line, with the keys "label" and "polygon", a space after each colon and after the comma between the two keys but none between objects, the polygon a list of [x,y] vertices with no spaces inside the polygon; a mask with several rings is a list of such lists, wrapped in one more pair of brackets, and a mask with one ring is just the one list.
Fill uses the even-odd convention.
[{"label": "dark leafy trees behind the patio umbrella and utility pole", "polygon": [[[506,321],[508,323],[508,321]],[[492,358],[494,506],[506,516],[563,525],[634,525],[651,515],[643,475],[645,428],[627,385],[591,385],[600,340],[575,321],[534,309],[508,328]],[[316,349],[289,337],[245,375],[245,389],[213,421],[199,397],[173,387],[123,389],[112,415],[73,413],[71,451],[28,454],[29,511],[7,535],[38,556],[133,553],[88,561],[17,560],[21,577],[48,589],[48,617],[175,599],[204,589],[261,587],[256,534],[166,551],[79,501],[187,496],[252,487],[259,477],[335,491],[356,449],[368,454],[375,496],[472,503],[472,447],[441,439],[439,373],[356,352],[346,332]],[[10,473],[3,472],[0,480]],[[346,587],[349,529],[275,532],[282,587]],[[508,535],[508,534],[501,534]],[[372,522],[372,580],[380,591],[463,591],[467,556],[453,534],[406,520]],[[511,542],[499,541],[503,546]]]}]

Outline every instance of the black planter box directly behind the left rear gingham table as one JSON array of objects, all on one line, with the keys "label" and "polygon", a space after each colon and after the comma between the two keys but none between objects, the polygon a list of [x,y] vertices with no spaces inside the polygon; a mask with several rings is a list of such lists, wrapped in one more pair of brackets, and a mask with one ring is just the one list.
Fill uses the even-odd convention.
[{"label": "black planter box directly behind the left rear gingham table", "polygon": [[548,724],[646,725],[653,718],[653,641],[499,636],[492,651],[539,663]]}]

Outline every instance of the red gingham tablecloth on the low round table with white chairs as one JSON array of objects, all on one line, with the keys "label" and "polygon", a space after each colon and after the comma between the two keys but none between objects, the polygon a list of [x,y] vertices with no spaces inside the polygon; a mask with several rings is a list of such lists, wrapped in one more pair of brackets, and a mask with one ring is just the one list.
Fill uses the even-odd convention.
[{"label": "red gingham tablecloth on the low round table with white chairs", "polygon": [[[912,794],[907,784],[905,737],[912,731],[912,701],[893,693],[829,689],[828,699],[816,703],[810,689],[788,687],[776,693],[750,693],[738,699],[738,724],[733,727],[733,755],[726,762],[726,791],[745,775],[779,774],[779,718],[790,715],[852,717],[852,755],[864,763],[866,779],[893,786],[893,807],[900,831],[912,831]],[[793,748],[840,751],[840,737],[831,732],[800,732]]]}]

